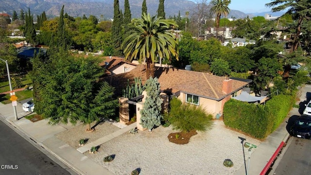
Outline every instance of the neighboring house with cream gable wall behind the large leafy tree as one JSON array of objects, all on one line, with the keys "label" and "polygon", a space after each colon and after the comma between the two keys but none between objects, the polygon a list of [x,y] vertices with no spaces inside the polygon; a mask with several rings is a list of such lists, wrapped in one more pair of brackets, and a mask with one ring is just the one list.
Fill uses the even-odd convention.
[{"label": "neighboring house with cream gable wall behind the large leafy tree", "polygon": [[127,62],[121,57],[105,56],[100,66],[105,68],[106,75],[115,75],[129,72],[136,68],[137,64]]}]

